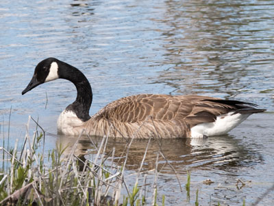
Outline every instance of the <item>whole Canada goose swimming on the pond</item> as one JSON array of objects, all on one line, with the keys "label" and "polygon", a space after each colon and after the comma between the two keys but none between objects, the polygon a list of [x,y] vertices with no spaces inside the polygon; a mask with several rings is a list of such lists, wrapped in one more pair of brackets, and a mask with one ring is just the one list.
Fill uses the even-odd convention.
[{"label": "whole Canada goose swimming on the pond", "polygon": [[66,79],[77,89],[75,102],[58,118],[58,133],[76,136],[160,138],[224,135],[253,113],[264,112],[257,105],[199,95],[140,94],[111,102],[90,117],[92,91],[86,76],[56,58],[38,63],[22,95],[39,84]]}]

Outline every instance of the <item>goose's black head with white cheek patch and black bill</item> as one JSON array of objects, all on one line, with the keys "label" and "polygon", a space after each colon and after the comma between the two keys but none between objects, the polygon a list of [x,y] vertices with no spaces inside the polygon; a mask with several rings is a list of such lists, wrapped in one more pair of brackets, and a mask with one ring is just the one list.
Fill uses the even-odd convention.
[{"label": "goose's black head with white cheek patch and black bill", "polygon": [[46,58],[39,62],[35,68],[32,80],[27,84],[26,89],[22,91],[22,95],[42,83],[58,79],[58,62],[60,61],[56,58]]}]

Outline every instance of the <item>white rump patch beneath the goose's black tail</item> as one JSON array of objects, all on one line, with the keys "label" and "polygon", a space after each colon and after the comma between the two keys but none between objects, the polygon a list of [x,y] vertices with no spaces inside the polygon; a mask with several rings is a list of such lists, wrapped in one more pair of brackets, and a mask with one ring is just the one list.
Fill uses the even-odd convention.
[{"label": "white rump patch beneath the goose's black tail", "polygon": [[203,136],[225,135],[230,130],[238,126],[247,119],[250,114],[240,114],[230,112],[225,115],[219,115],[215,122],[201,123],[191,128],[191,137],[202,138]]}]

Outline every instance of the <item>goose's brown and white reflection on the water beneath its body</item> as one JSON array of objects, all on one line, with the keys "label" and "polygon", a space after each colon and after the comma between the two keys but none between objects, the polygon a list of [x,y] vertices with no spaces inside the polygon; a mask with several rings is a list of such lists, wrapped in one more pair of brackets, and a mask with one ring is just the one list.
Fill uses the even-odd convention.
[{"label": "goose's brown and white reflection on the water beneath its body", "polygon": [[[61,136],[59,139],[62,145],[69,145],[65,154],[71,152],[75,144],[75,138]],[[92,144],[88,137],[81,137],[75,150],[75,155],[81,157],[97,154],[97,148],[101,144],[101,137],[92,137]],[[129,139],[108,139],[105,148],[105,157],[111,157],[114,150],[114,162],[122,165],[125,161],[126,148]],[[142,158],[145,154],[149,140],[136,139],[133,141],[127,157],[127,170],[138,170]],[[97,148],[95,148],[97,145]],[[143,170],[153,170],[158,152],[162,152],[166,158],[177,170],[185,173],[186,170],[223,170],[229,171],[232,168],[248,166],[254,163],[263,162],[262,157],[251,148],[245,148],[240,141],[232,136],[210,137],[208,139],[152,139],[149,143],[149,149],[145,159]],[[166,165],[163,157],[158,160],[158,168],[162,168],[162,173],[173,174],[173,170]],[[217,171],[215,171],[217,172]]]}]

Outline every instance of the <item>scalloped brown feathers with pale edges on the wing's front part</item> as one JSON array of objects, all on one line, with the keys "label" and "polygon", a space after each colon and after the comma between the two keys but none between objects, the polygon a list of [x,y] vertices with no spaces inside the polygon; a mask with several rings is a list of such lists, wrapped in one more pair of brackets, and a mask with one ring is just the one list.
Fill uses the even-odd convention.
[{"label": "scalloped brown feathers with pale edges on the wing's front part", "polygon": [[172,120],[184,118],[191,112],[191,106],[182,106],[183,102],[171,95],[132,95],[108,104],[96,116],[132,123],[142,122],[149,115],[153,119]]}]

